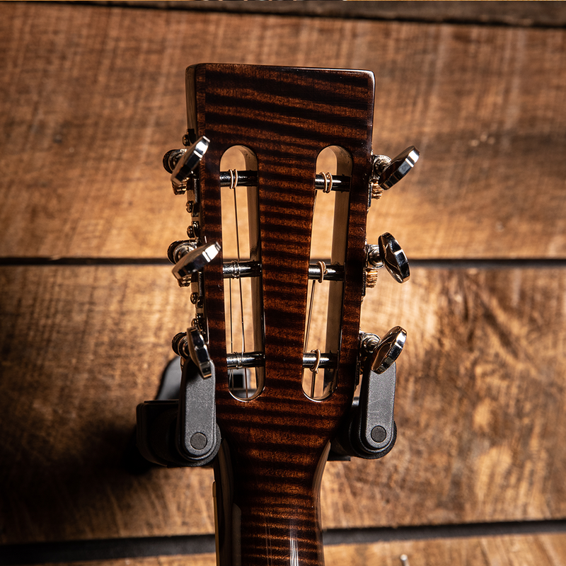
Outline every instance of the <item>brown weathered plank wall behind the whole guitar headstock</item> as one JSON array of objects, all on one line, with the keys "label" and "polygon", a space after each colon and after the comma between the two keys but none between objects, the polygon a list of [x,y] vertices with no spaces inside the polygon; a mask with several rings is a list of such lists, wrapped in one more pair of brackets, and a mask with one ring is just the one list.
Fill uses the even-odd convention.
[{"label": "brown weathered plank wall behind the whole guitar headstock", "polygon": [[192,316],[162,260],[187,224],[161,167],[184,69],[236,62],[370,69],[374,151],[421,151],[369,218],[369,241],[391,231],[413,260],[362,314],[409,331],[398,442],[328,464],[325,529],[361,541],[328,564],[565,564],[563,3],[495,21],[133,4],[0,5],[0,562],[98,541],[89,564],[214,563],[173,543],[110,559],[214,531],[212,471],[132,476],[120,458]]}]

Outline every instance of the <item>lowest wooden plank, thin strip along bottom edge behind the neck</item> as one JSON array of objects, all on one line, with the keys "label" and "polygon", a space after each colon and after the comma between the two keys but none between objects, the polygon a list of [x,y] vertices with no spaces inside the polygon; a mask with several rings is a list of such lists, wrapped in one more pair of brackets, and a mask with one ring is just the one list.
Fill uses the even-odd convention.
[{"label": "lowest wooden plank, thin strip along bottom edge behind the neck", "polygon": [[[562,534],[439,538],[326,546],[326,566],[562,566],[566,537]],[[68,566],[214,566],[214,554],[160,556],[127,560],[65,562]],[[62,564],[54,565],[62,566]]]}]

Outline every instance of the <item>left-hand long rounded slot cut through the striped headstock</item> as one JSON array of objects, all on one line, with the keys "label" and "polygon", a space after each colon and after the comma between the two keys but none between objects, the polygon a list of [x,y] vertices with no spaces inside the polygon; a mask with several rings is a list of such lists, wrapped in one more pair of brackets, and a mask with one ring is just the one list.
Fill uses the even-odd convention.
[{"label": "left-hand long rounded slot cut through the striped headstock", "polygon": [[248,352],[262,352],[264,342],[258,158],[246,146],[231,146],[221,157],[220,170],[224,258],[234,258],[223,266],[226,361],[232,362],[229,390],[238,399],[250,400],[261,392],[265,376],[261,365],[243,364]]}]

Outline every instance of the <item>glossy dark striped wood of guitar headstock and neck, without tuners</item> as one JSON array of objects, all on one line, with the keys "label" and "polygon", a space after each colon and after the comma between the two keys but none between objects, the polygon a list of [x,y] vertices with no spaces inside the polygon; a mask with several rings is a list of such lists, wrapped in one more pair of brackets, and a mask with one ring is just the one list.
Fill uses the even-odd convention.
[{"label": "glossy dark striped wood of guitar headstock and neck, without tuners", "polygon": [[[320,478],[329,441],[352,404],[363,293],[368,158],[374,77],[366,71],[201,64],[187,69],[189,127],[211,140],[200,163],[201,238],[222,244],[220,161],[231,146],[257,159],[248,192],[255,350],[265,355],[260,392],[234,398],[226,367],[222,258],[204,268],[204,318],[216,366],[215,463],[221,566],[320,566]],[[311,400],[302,383],[316,159],[327,146],[351,160],[350,190],[337,192],[326,352],[333,391]],[[343,167],[343,165],[342,165]],[[239,188],[237,190],[240,190]],[[246,190],[246,189],[244,189]],[[251,226],[255,219],[255,226]]]}]

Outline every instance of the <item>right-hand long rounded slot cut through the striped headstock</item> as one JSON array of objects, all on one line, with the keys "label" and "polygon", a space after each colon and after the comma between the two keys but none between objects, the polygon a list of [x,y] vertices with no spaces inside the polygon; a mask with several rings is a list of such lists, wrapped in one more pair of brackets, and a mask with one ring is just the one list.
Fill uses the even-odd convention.
[{"label": "right-hand long rounded slot cut through the striped headstock", "polygon": [[[347,219],[344,221],[342,215],[336,218],[335,204],[350,200],[348,181],[352,173],[352,158],[340,146],[325,147],[317,156],[316,172],[318,183],[315,183],[310,271],[313,272],[313,267],[317,266],[318,273],[323,277],[311,279],[309,273],[311,281],[306,307],[304,350],[306,354],[313,353],[318,357],[313,366],[303,370],[303,391],[312,399],[322,400],[332,393],[336,385],[336,366],[322,369],[317,362],[320,354],[337,355],[340,351],[340,324],[337,325],[336,320],[342,316]],[[319,178],[323,178],[323,183]],[[334,219],[331,227],[328,218]],[[338,250],[334,254],[333,248]],[[331,295],[335,298],[340,296],[340,301],[330,301]],[[337,316],[335,311],[338,311]]]}]

